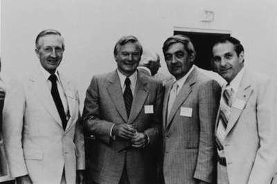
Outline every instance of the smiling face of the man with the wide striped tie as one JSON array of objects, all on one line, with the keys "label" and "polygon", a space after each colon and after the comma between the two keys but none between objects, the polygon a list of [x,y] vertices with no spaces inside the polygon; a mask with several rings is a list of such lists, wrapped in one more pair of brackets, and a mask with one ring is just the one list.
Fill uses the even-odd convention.
[{"label": "smiling face of the man with the wide striped tie", "polygon": [[215,69],[227,82],[231,82],[244,66],[244,52],[238,55],[231,42],[213,46],[213,63]]}]

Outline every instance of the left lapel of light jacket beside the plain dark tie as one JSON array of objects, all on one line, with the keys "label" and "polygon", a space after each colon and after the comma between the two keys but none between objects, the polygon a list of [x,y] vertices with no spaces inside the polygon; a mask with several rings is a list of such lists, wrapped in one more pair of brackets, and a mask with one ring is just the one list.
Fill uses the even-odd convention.
[{"label": "left lapel of light jacket beside the plain dark tie", "polygon": [[31,85],[33,86],[33,91],[35,95],[37,95],[37,99],[42,102],[48,113],[50,113],[55,121],[62,127],[62,120],[60,119],[60,115],[57,112],[57,108],[52,98],[51,91],[41,71],[35,71],[35,75],[29,77],[29,80],[31,82]]}]

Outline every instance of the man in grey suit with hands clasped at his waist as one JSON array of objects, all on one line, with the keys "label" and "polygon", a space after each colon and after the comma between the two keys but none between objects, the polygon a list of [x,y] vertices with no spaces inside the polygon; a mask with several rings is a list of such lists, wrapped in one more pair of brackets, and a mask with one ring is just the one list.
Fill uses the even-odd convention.
[{"label": "man in grey suit with hands clasped at his waist", "polygon": [[156,183],[152,148],[159,140],[163,87],[136,68],[142,46],[134,36],[114,48],[117,69],[92,78],[84,100],[84,127],[96,139],[88,168],[93,183]]}]

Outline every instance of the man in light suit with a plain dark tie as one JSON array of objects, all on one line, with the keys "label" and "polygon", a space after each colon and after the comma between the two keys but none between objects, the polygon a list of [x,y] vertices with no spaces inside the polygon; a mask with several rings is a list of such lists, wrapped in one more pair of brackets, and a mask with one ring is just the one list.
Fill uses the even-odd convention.
[{"label": "man in light suit with a plain dark tie", "polygon": [[6,93],[3,140],[10,173],[17,183],[82,183],[78,91],[57,71],[64,53],[62,35],[43,30],[35,52],[37,70],[12,82]]}]

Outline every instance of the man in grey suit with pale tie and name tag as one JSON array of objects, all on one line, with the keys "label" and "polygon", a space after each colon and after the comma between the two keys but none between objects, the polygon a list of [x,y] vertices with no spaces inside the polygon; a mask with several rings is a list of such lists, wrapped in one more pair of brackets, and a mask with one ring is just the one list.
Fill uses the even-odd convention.
[{"label": "man in grey suit with pale tie and name tag", "polygon": [[197,71],[195,48],[184,35],[166,39],[163,54],[175,81],[163,101],[164,183],[214,183],[213,129],[220,85]]}]

